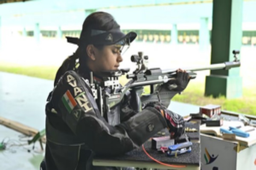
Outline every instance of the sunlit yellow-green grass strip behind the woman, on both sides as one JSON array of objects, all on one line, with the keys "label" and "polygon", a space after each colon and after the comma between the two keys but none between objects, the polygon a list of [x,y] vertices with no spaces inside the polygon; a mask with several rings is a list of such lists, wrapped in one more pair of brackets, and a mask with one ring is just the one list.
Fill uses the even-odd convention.
[{"label": "sunlit yellow-green grass strip behind the woman, on both sides", "polygon": [[[58,70],[56,66],[20,66],[0,64],[0,71],[23,74],[43,79],[54,79]],[[125,81],[122,77],[121,81]],[[146,89],[147,91],[147,89]],[[239,99],[226,99],[224,96],[213,98],[204,96],[204,83],[191,80],[181,95],[176,95],[173,101],[204,106],[207,104],[221,105],[222,110],[233,111],[256,116],[256,87],[243,88],[243,97]]]}]

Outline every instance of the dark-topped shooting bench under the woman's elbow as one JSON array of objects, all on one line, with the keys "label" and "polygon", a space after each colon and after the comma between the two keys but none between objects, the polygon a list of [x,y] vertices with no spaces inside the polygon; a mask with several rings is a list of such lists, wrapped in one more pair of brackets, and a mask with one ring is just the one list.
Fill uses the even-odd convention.
[{"label": "dark-topped shooting bench under the woman's elbow", "polygon": [[[131,150],[120,156],[114,157],[102,157],[96,156],[93,159],[93,165],[95,166],[116,166],[116,167],[139,167],[143,170],[145,169],[182,169],[182,170],[200,170],[200,142],[199,142],[199,124],[198,123],[186,123],[186,127],[197,129],[196,132],[187,133],[187,136],[192,139],[192,151],[190,153],[183,153],[181,155],[167,156],[166,153],[161,153],[155,149],[151,148],[151,139],[144,143],[145,150],[154,159],[161,161],[166,164],[178,165],[173,167],[168,167],[159,164],[152,159],[150,159],[143,148],[137,148]],[[163,130],[164,133],[168,133]],[[181,167],[179,167],[181,166]]]}]

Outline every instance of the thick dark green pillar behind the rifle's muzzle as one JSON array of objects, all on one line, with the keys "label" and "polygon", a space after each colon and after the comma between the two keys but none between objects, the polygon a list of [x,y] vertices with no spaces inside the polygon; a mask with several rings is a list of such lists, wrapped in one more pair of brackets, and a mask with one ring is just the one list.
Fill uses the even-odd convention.
[{"label": "thick dark green pillar behind the rifle's muzzle", "polygon": [[[243,0],[213,0],[211,63],[233,61],[241,49]],[[242,63],[241,63],[242,64]],[[215,70],[206,77],[205,95],[227,99],[242,96],[240,68]]]}]

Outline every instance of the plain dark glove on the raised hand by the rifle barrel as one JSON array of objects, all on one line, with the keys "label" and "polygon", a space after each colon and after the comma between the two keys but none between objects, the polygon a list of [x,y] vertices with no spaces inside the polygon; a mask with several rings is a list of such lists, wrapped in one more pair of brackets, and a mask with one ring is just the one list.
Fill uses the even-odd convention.
[{"label": "plain dark glove on the raised hand by the rifle barrel", "polygon": [[190,77],[186,71],[178,69],[175,80],[167,82],[169,90],[183,91],[189,83]]}]

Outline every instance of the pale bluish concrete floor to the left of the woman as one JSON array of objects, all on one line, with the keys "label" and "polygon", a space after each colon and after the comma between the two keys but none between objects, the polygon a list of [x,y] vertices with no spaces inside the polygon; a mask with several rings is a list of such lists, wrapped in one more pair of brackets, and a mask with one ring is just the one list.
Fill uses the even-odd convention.
[{"label": "pale bluish concrete floor to the left of the woman", "polygon": [[[45,128],[44,105],[52,81],[0,72],[0,116],[20,122],[37,130]],[[0,170],[39,170],[44,157],[39,142],[28,145],[31,139],[0,125]]]}]

